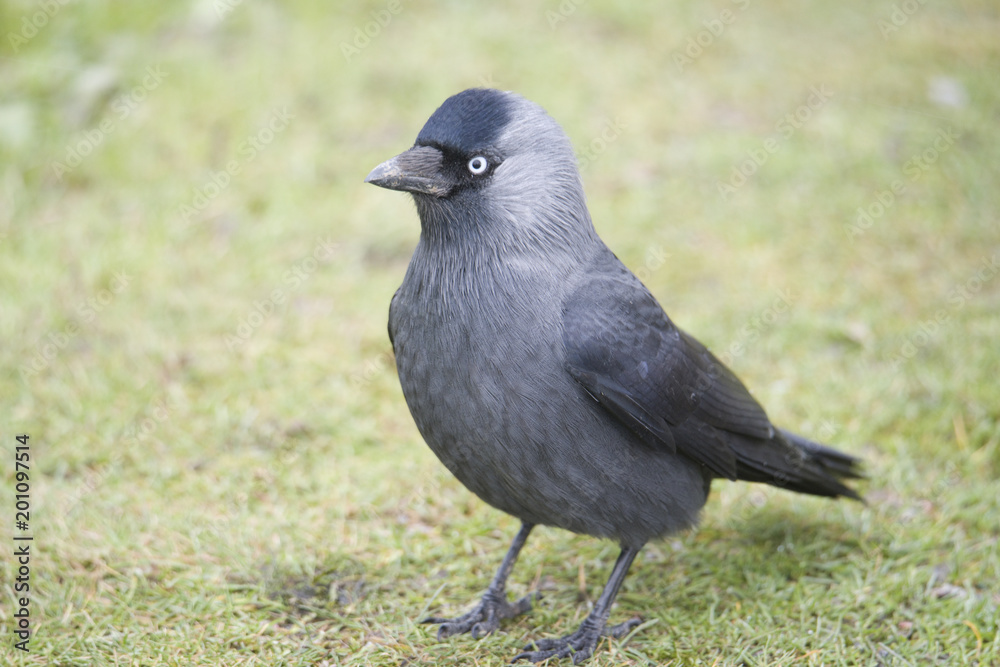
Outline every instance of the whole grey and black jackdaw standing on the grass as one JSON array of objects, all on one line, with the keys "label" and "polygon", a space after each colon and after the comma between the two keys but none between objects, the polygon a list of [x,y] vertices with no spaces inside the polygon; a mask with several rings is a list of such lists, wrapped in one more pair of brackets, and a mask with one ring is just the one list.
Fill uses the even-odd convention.
[{"label": "whole grey and black jackdaw standing on the grass", "polygon": [[417,429],[458,480],[521,526],[482,598],[431,617],[481,638],[529,611],[506,584],[535,526],[615,540],[579,628],[516,660],[590,658],[636,555],[694,526],[713,479],[860,500],[861,460],[774,426],[745,385],[679,329],[598,236],[572,144],[508,91],[449,97],[366,183],[408,192],[420,237],[389,306]]}]

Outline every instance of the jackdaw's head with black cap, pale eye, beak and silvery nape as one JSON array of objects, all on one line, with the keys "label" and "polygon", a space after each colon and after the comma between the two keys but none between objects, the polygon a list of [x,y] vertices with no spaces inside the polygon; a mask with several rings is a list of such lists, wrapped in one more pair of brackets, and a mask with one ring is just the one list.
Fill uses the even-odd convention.
[{"label": "jackdaw's head with black cap, pale eye, beak and silvery nape", "polygon": [[594,236],[572,145],[544,109],[473,88],[435,111],[366,183],[413,195],[425,237],[551,245]]}]

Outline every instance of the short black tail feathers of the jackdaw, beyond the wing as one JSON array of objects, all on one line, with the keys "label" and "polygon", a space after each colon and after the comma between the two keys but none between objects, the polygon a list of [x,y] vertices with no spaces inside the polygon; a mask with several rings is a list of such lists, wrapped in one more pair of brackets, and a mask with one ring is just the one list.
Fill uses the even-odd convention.
[{"label": "short black tail feathers of the jackdaw, beyond the wing", "polygon": [[776,429],[774,439],[766,445],[762,446],[758,440],[733,449],[738,479],[814,496],[861,500],[854,489],[841,481],[864,477],[861,460],[832,447]]}]

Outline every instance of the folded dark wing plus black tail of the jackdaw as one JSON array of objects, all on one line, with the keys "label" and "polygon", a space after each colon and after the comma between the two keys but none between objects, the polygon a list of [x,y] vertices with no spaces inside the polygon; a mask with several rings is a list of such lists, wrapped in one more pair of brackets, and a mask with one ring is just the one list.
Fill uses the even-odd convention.
[{"label": "folded dark wing plus black tail of the jackdaw", "polygon": [[732,371],[667,317],[614,255],[563,308],[566,370],[645,442],[714,475],[820,496],[858,494],[838,478],[860,461],[775,429]]}]

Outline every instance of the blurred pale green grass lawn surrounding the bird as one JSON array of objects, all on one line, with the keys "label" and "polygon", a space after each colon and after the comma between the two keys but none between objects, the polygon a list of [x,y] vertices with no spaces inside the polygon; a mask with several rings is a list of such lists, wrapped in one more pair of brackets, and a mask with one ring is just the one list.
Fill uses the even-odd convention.
[{"label": "blurred pale green grass lawn surrounding the bird", "polygon": [[3,664],[500,665],[587,613],[615,545],[541,530],[531,614],[415,623],[517,524],[410,420],[419,225],[362,179],[480,85],[563,124],[598,231],[777,423],[869,463],[865,507],[717,482],[592,664],[1000,664],[997,5],[345,4],[0,3]]}]

